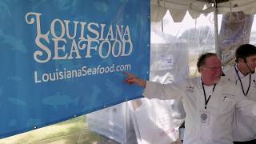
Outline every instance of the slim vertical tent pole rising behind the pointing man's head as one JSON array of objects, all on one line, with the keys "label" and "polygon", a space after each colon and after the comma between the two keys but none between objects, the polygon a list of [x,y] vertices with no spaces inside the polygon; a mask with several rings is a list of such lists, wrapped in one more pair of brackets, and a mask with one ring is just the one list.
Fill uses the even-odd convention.
[{"label": "slim vertical tent pole rising behind the pointing man's head", "polygon": [[221,50],[219,50],[218,47],[218,8],[217,8],[217,2],[214,0],[214,35],[215,35],[215,50],[216,54],[218,54],[218,57],[222,60],[222,53]]}]

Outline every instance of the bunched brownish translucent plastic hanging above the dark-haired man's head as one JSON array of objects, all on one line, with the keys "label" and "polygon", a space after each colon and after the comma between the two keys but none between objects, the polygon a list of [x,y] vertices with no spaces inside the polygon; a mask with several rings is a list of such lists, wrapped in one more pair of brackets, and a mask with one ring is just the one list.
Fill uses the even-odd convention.
[{"label": "bunched brownish translucent plastic hanging above the dark-haired man's head", "polygon": [[223,66],[234,65],[234,51],[244,43],[255,44],[256,38],[251,37],[254,15],[243,12],[223,14],[219,17],[221,23],[218,34],[218,48],[222,53]]}]

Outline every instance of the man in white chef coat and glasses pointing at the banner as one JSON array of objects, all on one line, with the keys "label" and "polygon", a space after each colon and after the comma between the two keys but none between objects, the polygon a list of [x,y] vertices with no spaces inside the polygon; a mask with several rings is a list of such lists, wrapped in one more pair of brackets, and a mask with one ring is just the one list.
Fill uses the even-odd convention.
[{"label": "man in white chef coat and glasses pointing at the banner", "polygon": [[202,54],[197,66],[201,77],[183,82],[160,84],[129,73],[125,73],[125,82],[145,87],[146,98],[182,100],[186,112],[184,144],[232,144],[234,111],[256,115],[256,103],[247,100],[238,86],[221,79],[222,62],[216,54]]}]

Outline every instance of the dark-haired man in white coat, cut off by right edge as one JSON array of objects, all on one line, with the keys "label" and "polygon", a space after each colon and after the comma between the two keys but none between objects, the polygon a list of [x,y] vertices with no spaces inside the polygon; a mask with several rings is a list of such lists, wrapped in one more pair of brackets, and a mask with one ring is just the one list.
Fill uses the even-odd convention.
[{"label": "dark-haired man in white coat, cut off by right edge", "polygon": [[[256,102],[256,47],[243,44],[235,51],[234,66],[224,70],[225,78],[242,91],[245,98]],[[234,144],[256,143],[255,118],[246,117],[240,111],[234,115]]]}]

